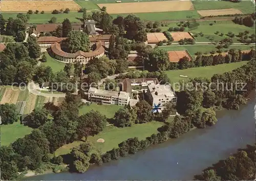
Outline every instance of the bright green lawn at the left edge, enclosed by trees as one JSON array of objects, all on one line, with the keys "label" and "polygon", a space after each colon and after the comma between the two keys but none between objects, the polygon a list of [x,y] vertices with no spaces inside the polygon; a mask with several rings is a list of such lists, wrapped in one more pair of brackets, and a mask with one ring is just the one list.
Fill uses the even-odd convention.
[{"label": "bright green lawn at the left edge, enclosed by trees", "polygon": [[1,125],[1,145],[9,145],[18,138],[30,134],[32,130],[32,128],[20,124],[19,121],[13,124]]}]

